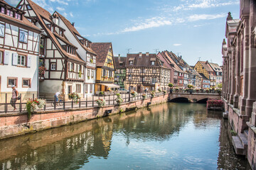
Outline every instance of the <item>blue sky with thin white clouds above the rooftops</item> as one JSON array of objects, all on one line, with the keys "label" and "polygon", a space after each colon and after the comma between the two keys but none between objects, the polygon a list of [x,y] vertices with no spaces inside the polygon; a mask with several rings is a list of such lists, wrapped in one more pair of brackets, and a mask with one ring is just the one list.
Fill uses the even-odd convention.
[{"label": "blue sky with thin white clouds above the rooftops", "polygon": [[190,65],[199,58],[222,65],[228,12],[233,18],[240,13],[239,0],[33,1],[50,13],[61,13],[88,40],[112,42],[114,56],[169,50]]}]

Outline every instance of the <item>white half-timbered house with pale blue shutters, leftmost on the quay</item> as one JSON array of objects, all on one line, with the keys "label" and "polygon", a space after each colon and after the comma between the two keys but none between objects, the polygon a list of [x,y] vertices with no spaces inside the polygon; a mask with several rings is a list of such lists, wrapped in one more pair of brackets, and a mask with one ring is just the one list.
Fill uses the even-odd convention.
[{"label": "white half-timbered house with pale blue shutters, leftmost on the quay", "polygon": [[[24,12],[0,1],[0,101],[16,86],[22,98],[38,94],[38,50],[41,30]],[[7,94],[7,98],[6,98]]]}]

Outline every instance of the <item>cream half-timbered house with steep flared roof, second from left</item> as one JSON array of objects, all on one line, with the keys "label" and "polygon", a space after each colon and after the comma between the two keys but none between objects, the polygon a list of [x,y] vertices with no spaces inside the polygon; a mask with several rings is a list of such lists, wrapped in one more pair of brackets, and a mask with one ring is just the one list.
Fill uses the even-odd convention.
[{"label": "cream half-timbered house with steep flared roof, second from left", "polygon": [[78,47],[65,38],[65,29],[46,9],[31,0],[21,0],[17,7],[25,11],[26,18],[43,31],[40,66],[46,67],[46,71],[41,75],[40,94],[53,96],[60,91],[65,98],[73,92],[82,95],[85,62],[77,55]]}]

